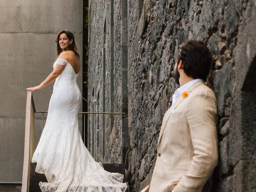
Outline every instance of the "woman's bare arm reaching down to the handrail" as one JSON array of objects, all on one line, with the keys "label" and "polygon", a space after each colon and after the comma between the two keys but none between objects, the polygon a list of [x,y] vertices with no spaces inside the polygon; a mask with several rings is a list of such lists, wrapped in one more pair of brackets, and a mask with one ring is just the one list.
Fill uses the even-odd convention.
[{"label": "woman's bare arm reaching down to the handrail", "polygon": [[65,65],[56,65],[54,70],[50,73],[50,75],[38,86],[26,88],[29,91],[40,90],[46,86],[48,86],[51,82],[53,82],[64,70]]}]

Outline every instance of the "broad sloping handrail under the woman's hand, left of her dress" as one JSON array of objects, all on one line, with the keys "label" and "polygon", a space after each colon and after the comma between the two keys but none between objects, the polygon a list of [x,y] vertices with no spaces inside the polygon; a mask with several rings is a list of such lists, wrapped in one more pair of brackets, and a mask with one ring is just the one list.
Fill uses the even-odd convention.
[{"label": "broad sloping handrail under the woman's hand, left of her dress", "polygon": [[26,101],[26,124],[24,139],[24,161],[22,173],[22,192],[29,191],[30,180],[30,162],[34,153],[34,112],[36,111],[33,95],[31,91],[27,92]]}]

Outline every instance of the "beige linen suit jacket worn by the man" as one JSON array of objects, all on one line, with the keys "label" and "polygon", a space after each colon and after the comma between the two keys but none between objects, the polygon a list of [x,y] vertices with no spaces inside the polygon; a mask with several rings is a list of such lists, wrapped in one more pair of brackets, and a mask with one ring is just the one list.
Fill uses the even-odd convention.
[{"label": "beige linen suit jacket worn by the man", "polygon": [[202,192],[218,162],[216,98],[204,82],[165,113],[150,186],[142,192]]}]

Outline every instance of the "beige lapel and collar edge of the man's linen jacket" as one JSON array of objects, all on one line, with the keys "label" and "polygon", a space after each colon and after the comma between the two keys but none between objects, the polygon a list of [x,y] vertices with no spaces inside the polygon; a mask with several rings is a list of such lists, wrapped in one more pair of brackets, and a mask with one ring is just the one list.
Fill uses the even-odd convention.
[{"label": "beige lapel and collar edge of the man's linen jacket", "polygon": [[[188,92],[188,93],[192,92],[192,91],[194,90],[194,88],[196,88],[197,86],[202,85],[202,84],[204,84],[203,81],[198,81],[198,82],[196,82],[195,84],[193,84],[192,86],[190,86],[190,87],[188,88],[187,92]],[[188,94],[188,96],[189,96],[189,94]],[[178,98],[178,100],[166,111],[166,113],[168,113],[168,114],[167,114],[168,117],[166,117],[166,121],[163,122],[163,124],[162,124],[162,126],[161,126],[161,130],[160,130],[159,138],[158,138],[158,142],[157,142],[157,148],[158,148],[158,145],[159,145],[159,143],[160,143],[160,141],[161,141],[161,138],[162,138],[162,135],[163,135],[163,132],[164,132],[164,128],[166,127],[166,124],[167,124],[169,118],[171,118],[171,112],[170,112],[170,111],[176,109],[176,108],[178,107],[178,105],[179,105],[184,99],[186,99],[186,98],[182,98],[182,97],[180,96],[180,98]]]}]

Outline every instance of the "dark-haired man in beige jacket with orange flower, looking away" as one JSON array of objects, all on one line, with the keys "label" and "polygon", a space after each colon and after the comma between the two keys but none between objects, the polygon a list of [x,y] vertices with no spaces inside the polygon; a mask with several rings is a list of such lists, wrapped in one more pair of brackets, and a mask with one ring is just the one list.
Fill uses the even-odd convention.
[{"label": "dark-haired man in beige jacket with orange flower, looking away", "polygon": [[160,130],[150,185],[141,192],[208,192],[207,180],[218,162],[216,98],[203,80],[211,54],[201,41],[179,47],[174,66],[180,85]]}]

